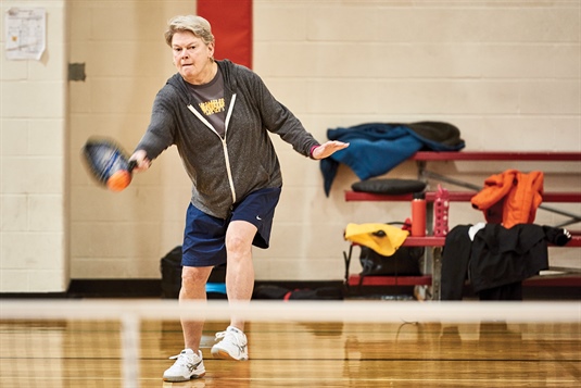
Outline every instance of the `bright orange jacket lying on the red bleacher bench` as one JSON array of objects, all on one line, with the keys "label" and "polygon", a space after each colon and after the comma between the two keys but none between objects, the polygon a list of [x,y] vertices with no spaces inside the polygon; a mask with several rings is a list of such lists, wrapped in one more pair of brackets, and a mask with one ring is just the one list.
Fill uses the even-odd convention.
[{"label": "bright orange jacket lying on the red bleacher bench", "polygon": [[543,201],[543,177],[539,171],[523,174],[517,170],[492,175],[472,197],[472,206],[484,212],[487,222],[503,224],[505,228],[532,224]]}]

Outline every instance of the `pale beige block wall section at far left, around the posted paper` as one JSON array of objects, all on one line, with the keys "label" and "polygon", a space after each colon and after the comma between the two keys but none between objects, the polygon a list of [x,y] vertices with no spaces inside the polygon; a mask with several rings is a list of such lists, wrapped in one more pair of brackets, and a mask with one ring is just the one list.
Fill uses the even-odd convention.
[{"label": "pale beige block wall section at far left, around the posted paper", "polygon": [[[0,292],[68,287],[65,1],[2,1],[0,22]],[[4,15],[45,8],[47,50],[9,61]]]}]

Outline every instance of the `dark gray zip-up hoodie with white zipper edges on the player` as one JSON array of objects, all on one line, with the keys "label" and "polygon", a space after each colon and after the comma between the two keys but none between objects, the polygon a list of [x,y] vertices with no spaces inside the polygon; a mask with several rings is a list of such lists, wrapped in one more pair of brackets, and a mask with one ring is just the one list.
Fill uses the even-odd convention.
[{"label": "dark gray zip-up hoodie with white zipper edges on the player", "polygon": [[154,160],[176,145],[192,180],[191,202],[226,218],[232,204],[249,193],[282,186],[280,164],[268,132],[310,157],[317,140],[268,91],[251,70],[217,61],[224,76],[226,133],[222,138],[193,103],[179,74],[172,76],[153,102],[148,130],[136,147]]}]

